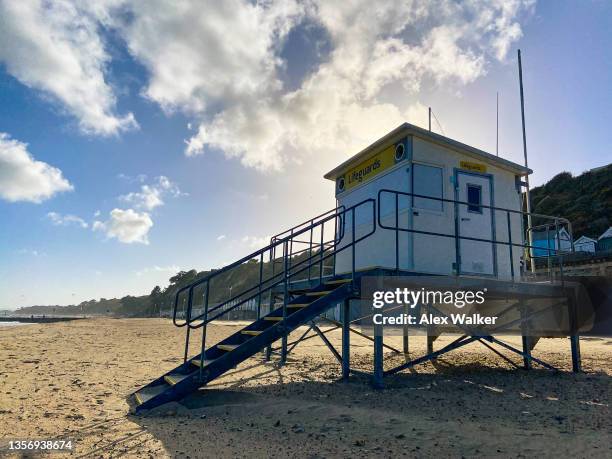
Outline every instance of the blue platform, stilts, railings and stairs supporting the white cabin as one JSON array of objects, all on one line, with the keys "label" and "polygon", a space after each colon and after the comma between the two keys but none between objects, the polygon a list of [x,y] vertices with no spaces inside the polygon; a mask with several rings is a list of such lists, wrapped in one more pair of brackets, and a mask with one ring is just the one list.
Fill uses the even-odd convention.
[{"label": "blue platform, stilts, railings and stairs supporting the white cabin", "polygon": [[[401,194],[428,198],[411,193]],[[397,196],[396,193],[396,199]],[[466,205],[465,202],[455,200],[438,200],[454,205],[455,209],[459,205]],[[494,209],[485,205],[480,207]],[[509,263],[511,269],[507,273],[507,277],[512,280],[500,279],[497,274],[481,277],[464,274],[432,275],[400,269],[400,232],[454,239],[455,247],[459,247],[461,240],[503,245],[508,249],[510,259],[518,252],[524,253],[529,246],[512,242],[510,237],[504,241],[495,237],[482,239],[465,236],[458,231],[446,234],[404,228],[399,225],[397,216],[395,226],[383,226],[380,213],[378,219],[376,218],[376,208],[376,200],[368,198],[348,208],[333,209],[273,237],[268,246],[179,289],[175,297],[173,322],[186,331],[183,363],[132,394],[129,398],[132,408],[138,412],[179,400],[258,352],[263,352],[266,360],[278,354],[279,363],[283,365],[287,355],[296,346],[315,336],[325,343],[340,364],[344,380],[348,379],[351,373],[363,375],[363,371],[351,368],[351,335],[356,334],[370,340],[373,351],[370,376],[375,387],[382,387],[386,375],[435,360],[447,352],[476,342],[515,366],[517,364],[505,353],[519,356],[525,369],[540,365],[556,371],[552,365],[532,354],[538,340],[546,336],[570,338],[572,368],[577,372],[581,369],[580,334],[612,333],[612,285],[609,280],[571,278],[563,276],[562,273],[556,281],[521,279],[521,273],[512,268],[513,263]],[[380,211],[380,203],[378,209]],[[371,220],[360,223],[359,232],[356,231],[355,223],[358,210],[363,211],[363,215],[371,215]],[[512,212],[514,215],[524,216],[519,211],[509,209],[494,210],[504,211],[508,216]],[[371,227],[368,227],[368,224]],[[396,268],[359,269],[356,262],[359,245],[372,236],[378,227],[390,231],[385,233],[391,235],[387,242],[395,241],[395,245],[389,245],[389,248],[393,249],[395,254]],[[349,272],[337,272],[340,270],[336,264],[339,255],[343,256],[341,269],[345,271],[346,267],[349,267]],[[458,268],[454,271],[462,272],[459,250],[456,250],[455,260],[452,266]],[[232,293],[231,289],[228,291],[227,282],[231,278],[235,279],[235,276],[247,279],[248,282],[241,286],[240,291]],[[364,327],[363,321],[367,321],[374,313],[372,298],[368,297],[368,285],[371,286],[372,282],[380,290],[394,285],[412,290],[483,290],[486,291],[485,301],[471,305],[470,312],[496,314],[502,320],[488,328],[464,323],[455,323],[452,327],[428,325],[424,328],[428,337],[426,355],[411,358],[409,327],[401,327],[403,349],[395,349],[384,342],[385,330],[382,325],[371,323],[370,329]],[[197,312],[194,310],[196,302]],[[256,320],[221,342],[207,346],[208,324],[247,304],[256,305]],[[183,310],[179,313],[181,305]],[[448,317],[452,311],[436,301],[421,301],[418,307],[423,309],[423,313],[441,318]],[[331,309],[339,314],[333,318],[328,317],[326,313]],[[322,320],[331,322],[333,327],[322,331],[319,328]],[[306,325],[307,330],[297,340],[288,343],[288,335],[302,325]],[[201,344],[194,353],[190,350],[190,337],[192,331],[198,329],[202,332]],[[335,349],[325,336],[327,332],[337,329],[342,332],[341,350]],[[435,349],[436,339],[441,334],[448,333],[455,333],[457,338],[441,349]],[[499,338],[508,333],[521,336],[520,349]],[[273,349],[273,344],[278,341],[280,346]],[[405,362],[385,369],[385,349],[403,354]]]}]

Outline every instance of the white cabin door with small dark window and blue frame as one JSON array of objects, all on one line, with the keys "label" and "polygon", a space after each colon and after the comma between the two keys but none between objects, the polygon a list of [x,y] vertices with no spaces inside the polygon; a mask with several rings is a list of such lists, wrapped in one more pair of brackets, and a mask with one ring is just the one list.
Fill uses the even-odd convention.
[{"label": "white cabin door with small dark window and blue frame", "polygon": [[[457,171],[457,200],[459,204],[459,235],[493,240],[492,178]],[[494,244],[492,242],[459,240],[461,274],[495,274]]]}]

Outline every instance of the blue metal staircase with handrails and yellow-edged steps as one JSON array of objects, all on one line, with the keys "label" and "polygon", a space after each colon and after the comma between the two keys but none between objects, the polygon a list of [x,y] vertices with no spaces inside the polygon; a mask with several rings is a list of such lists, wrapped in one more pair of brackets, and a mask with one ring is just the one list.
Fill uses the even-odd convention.
[{"label": "blue metal staircase with handrails and yellow-edged steps", "polygon": [[[371,209],[372,212],[372,228],[361,230],[358,237],[355,231],[356,209],[365,209],[368,213]],[[271,345],[277,340],[282,340],[281,363],[284,363],[289,333],[301,325],[313,323],[330,308],[355,297],[355,246],[374,233],[374,213],[373,199],[348,209],[333,209],[274,236],[267,247],[176,292],[173,322],[177,327],[186,327],[183,363],[134,392],[129,400],[132,409],[138,412],[179,400],[266,348],[269,356]],[[350,236],[346,234],[347,221],[350,222]],[[304,245],[306,248],[302,248]],[[333,261],[343,251],[351,254],[353,270],[335,275]],[[277,256],[277,252],[282,252],[282,255]],[[225,288],[218,282],[215,284],[220,276],[253,260],[258,261],[257,280],[234,295],[230,293],[229,298],[224,298],[219,304],[211,305],[209,299],[213,290]],[[332,261],[331,266],[326,264],[329,261]],[[201,290],[202,309],[194,314],[195,298],[199,296],[194,293],[197,289]],[[185,306],[182,319],[178,317],[181,298]],[[269,301],[270,310],[265,315],[261,312],[264,299]],[[208,324],[252,301],[257,302],[257,319],[207,348]],[[190,356],[191,330],[200,328],[200,352]]]}]

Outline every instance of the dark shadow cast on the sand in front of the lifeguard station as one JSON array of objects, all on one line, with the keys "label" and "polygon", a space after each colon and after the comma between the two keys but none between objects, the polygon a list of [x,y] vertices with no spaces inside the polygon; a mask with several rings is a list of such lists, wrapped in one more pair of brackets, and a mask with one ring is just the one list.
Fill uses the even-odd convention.
[{"label": "dark shadow cast on the sand in front of the lifeguard station", "polygon": [[[342,456],[342,442],[376,444],[392,432],[392,439],[418,445],[428,441],[428,429],[454,432],[456,441],[464,435],[469,444],[470,433],[485,424],[486,437],[494,437],[499,427],[529,431],[540,442],[560,434],[576,440],[581,432],[610,428],[612,382],[606,374],[497,370],[442,359],[434,365],[435,374],[417,369],[385,378],[382,390],[372,389],[363,376],[348,383],[315,380],[313,368],[292,371],[303,380],[287,382],[276,366],[266,365],[248,380],[225,382],[223,388],[211,385],[129,420],[159,440],[168,454],[180,457],[292,455],[290,438],[300,441],[306,457]],[[252,384],[275,373],[272,384]],[[250,385],[243,387],[246,382]],[[436,438],[430,438],[431,444],[435,440],[440,447],[445,440]],[[427,451],[426,444],[421,448]]]}]

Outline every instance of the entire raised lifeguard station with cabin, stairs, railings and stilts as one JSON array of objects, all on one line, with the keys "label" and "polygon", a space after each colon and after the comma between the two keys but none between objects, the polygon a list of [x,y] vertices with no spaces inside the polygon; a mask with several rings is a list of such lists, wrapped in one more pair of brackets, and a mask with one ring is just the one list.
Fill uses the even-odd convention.
[{"label": "entire raised lifeguard station with cabin, stairs, railings and stilts", "polygon": [[[138,411],[177,400],[262,351],[265,360],[278,355],[283,364],[295,346],[313,337],[322,339],[338,360],[343,379],[363,374],[351,367],[353,333],[373,343],[371,375],[377,387],[385,375],[474,342],[519,356],[527,369],[538,364],[554,370],[532,354],[539,336],[529,327],[546,315],[563,322],[562,331],[555,333],[570,337],[572,367],[579,371],[578,333],[597,311],[583,307],[588,289],[585,293],[579,280],[564,278],[561,251],[546,251],[556,263],[548,279],[528,277],[524,261],[536,247],[529,244],[532,228],[525,227],[521,192],[529,173],[519,164],[402,124],[325,174],[336,184],[336,207],[176,292],[173,322],[185,330],[183,363],[136,391],[132,406]],[[571,240],[567,220],[530,216],[546,231],[564,229]],[[242,276],[245,283],[232,291],[227,276]],[[489,300],[484,306],[504,306],[500,317],[506,322],[484,335],[462,327],[457,339],[438,350],[434,340],[445,329],[428,329],[426,355],[409,358],[407,332],[400,350],[384,341],[382,330],[369,336],[355,327],[362,281],[388,277],[437,288],[471,289],[486,282]],[[252,323],[218,343],[207,342],[212,321],[246,305],[254,308]],[[436,311],[435,304],[428,307]],[[332,310],[339,310],[339,317],[330,317]],[[589,313],[586,319],[581,311]],[[323,329],[323,323],[331,327]],[[326,337],[336,329],[342,332],[341,350]],[[520,349],[494,336],[510,329],[522,336]],[[197,331],[201,340],[194,350],[190,343]],[[291,342],[290,334],[295,337]],[[405,361],[384,370],[385,349]]]}]

